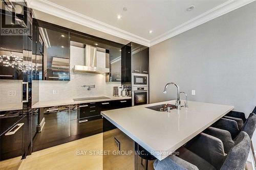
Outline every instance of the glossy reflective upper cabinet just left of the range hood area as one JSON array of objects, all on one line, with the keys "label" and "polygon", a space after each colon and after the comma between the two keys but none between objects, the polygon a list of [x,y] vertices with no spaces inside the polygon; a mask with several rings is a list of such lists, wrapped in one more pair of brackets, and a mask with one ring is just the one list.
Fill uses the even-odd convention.
[{"label": "glossy reflective upper cabinet just left of the range hood area", "polygon": [[[69,32],[38,23],[36,52],[38,80],[70,80]],[[40,78],[41,77],[41,78]]]}]

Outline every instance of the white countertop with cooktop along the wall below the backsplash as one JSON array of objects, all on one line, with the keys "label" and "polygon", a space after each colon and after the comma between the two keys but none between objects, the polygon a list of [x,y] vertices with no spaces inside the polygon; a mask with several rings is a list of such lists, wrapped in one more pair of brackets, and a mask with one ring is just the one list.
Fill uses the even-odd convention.
[{"label": "white countertop with cooktop along the wall below the backsplash", "polygon": [[55,101],[53,101],[53,100],[52,101],[39,101],[39,102],[35,103],[34,105],[32,105],[32,108],[132,99],[129,96],[126,96],[126,97],[106,96],[106,97],[108,97],[110,99],[97,99],[97,100],[86,100],[86,101],[74,101],[73,99],[63,99],[63,100],[55,100]]}]

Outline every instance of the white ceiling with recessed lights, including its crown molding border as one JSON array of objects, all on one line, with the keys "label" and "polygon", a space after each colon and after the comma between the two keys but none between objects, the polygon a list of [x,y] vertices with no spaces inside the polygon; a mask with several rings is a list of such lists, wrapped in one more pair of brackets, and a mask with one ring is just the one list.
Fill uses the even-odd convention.
[{"label": "white ceiling with recessed lights, including its crown molding border", "polygon": [[[252,0],[245,0],[244,2],[251,2]],[[87,27],[91,27],[98,31],[103,31],[109,34],[115,34],[124,39],[142,43],[144,45],[153,45],[162,40],[165,40],[172,34],[177,35],[184,25],[190,25],[188,29],[196,26],[191,26],[191,21],[198,21],[204,15],[208,15],[203,21],[208,21],[218,17],[231,10],[241,6],[240,1],[227,0],[210,0],[210,1],[65,1],[65,0],[50,0],[38,3],[37,0],[31,0],[32,8],[46,13],[51,13],[55,16],[66,17],[74,16],[73,20],[83,23]],[[231,5],[238,4],[239,7],[232,7]],[[47,8],[47,6],[52,8]],[[245,5],[246,3],[242,3]],[[186,9],[194,5],[192,11]],[[229,6],[229,8],[227,8]],[[126,7],[127,11],[123,11]],[[220,9],[225,7],[225,11],[220,13]],[[228,9],[228,10],[227,10]],[[52,11],[51,11],[52,10]],[[66,14],[61,14],[61,11]],[[219,10],[219,11],[218,11]],[[218,16],[213,16],[212,12],[219,12]],[[72,13],[69,16],[67,13]],[[211,14],[212,16],[209,16]],[[121,19],[117,19],[117,15],[121,15]],[[72,19],[72,18],[70,18]],[[70,20],[69,19],[69,20]],[[201,24],[198,23],[197,25]],[[101,27],[101,28],[100,28]],[[149,33],[152,30],[153,33]],[[177,32],[173,34],[174,32]],[[169,35],[168,35],[169,34]]]}]

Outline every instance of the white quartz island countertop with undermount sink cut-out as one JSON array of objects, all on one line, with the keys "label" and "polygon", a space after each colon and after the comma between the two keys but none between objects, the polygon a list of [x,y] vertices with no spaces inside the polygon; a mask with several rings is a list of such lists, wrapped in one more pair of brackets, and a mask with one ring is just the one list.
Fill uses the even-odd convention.
[{"label": "white quartz island countertop with undermount sink cut-out", "polygon": [[165,103],[175,101],[102,111],[101,115],[162,160],[234,108],[193,101],[188,101],[188,108],[170,113],[145,108]]}]

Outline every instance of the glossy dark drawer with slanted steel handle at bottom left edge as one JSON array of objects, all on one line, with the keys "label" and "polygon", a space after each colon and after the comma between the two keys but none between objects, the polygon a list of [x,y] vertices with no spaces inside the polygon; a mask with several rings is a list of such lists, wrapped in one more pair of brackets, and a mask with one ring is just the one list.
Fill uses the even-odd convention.
[{"label": "glossy dark drawer with slanted steel handle at bottom left edge", "polygon": [[24,116],[16,124],[0,136],[0,160],[22,156],[26,152],[27,116]]}]

